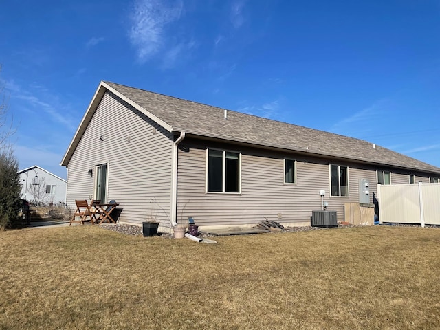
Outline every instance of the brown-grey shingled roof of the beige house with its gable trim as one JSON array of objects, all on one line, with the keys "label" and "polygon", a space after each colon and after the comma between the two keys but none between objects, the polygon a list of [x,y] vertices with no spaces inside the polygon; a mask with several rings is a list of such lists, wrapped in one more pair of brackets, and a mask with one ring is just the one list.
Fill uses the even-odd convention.
[{"label": "brown-grey shingled roof of the beige house with its gable trim", "polygon": [[[370,164],[382,164],[384,166],[422,170],[430,173],[440,173],[440,168],[432,166],[417,159],[396,153],[387,148],[375,145],[371,142],[355,139],[303,126],[287,124],[266,118],[248,115],[236,111],[227,111],[227,119],[224,118],[225,109],[212,107],[180,98],[156,94],[151,91],[135,89],[116,83],[102,82],[95,98],[102,98],[105,87],[113,94],[122,97],[137,109],[146,111],[152,115],[152,119],[158,119],[159,124],[173,132],[184,131],[188,135],[209,137],[230,142],[240,142],[256,146],[281,148],[289,151],[310,153],[326,157],[338,157],[351,159]],[[98,100],[92,100],[87,113],[98,107]],[[83,118],[76,135],[82,135],[81,131],[87,126],[87,118]],[[81,130],[81,126],[83,130]],[[71,146],[79,142],[80,136],[76,136]],[[76,143],[74,143],[77,141]],[[73,153],[73,150],[72,150]],[[63,159],[63,165],[70,157],[67,151]],[[66,163],[66,165],[67,165]]]}]

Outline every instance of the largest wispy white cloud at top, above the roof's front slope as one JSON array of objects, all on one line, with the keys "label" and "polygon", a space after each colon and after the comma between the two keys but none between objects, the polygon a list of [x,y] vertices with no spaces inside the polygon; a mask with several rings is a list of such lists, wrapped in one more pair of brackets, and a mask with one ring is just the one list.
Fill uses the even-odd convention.
[{"label": "largest wispy white cloud at top, above the roof's front slope", "polygon": [[182,1],[137,0],[131,14],[129,39],[137,49],[137,58],[148,61],[166,43],[166,25],[177,21]]}]

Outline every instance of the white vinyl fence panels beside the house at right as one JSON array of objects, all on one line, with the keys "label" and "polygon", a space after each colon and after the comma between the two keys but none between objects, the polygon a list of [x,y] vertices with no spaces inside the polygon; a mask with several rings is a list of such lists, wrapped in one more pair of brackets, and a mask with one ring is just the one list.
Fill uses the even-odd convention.
[{"label": "white vinyl fence panels beside the house at right", "polygon": [[377,185],[380,223],[440,225],[440,184]]}]

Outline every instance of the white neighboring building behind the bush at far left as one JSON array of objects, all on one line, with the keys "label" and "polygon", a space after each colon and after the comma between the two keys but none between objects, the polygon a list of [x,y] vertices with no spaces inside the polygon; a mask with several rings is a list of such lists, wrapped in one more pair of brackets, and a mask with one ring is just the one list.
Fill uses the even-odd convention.
[{"label": "white neighboring building behind the bush at far left", "polygon": [[20,170],[19,175],[22,199],[37,204],[65,203],[65,179],[36,165]]}]

